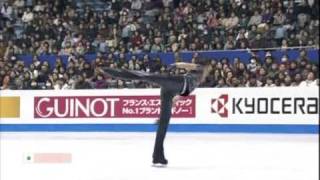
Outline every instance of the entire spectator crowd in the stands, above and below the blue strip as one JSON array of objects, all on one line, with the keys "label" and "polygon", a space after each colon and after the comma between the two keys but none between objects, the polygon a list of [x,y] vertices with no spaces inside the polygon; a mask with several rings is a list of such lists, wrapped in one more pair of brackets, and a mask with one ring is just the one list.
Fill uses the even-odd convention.
[{"label": "entire spectator crowd in the stands, above and below the blue strip", "polygon": [[[2,0],[0,87],[3,89],[90,89],[156,87],[107,77],[99,67],[153,73],[167,71],[148,53],[319,48],[319,2],[315,0]],[[307,51],[298,59],[252,56],[206,59],[212,67],[204,87],[319,85],[319,64]],[[96,53],[88,62],[85,54]],[[125,54],[145,53],[139,59]],[[19,59],[33,55],[32,64]],[[54,67],[41,55],[57,58]],[[118,58],[115,58],[118,57]],[[193,60],[200,59],[195,53]],[[176,57],[179,61],[179,56]]]}]

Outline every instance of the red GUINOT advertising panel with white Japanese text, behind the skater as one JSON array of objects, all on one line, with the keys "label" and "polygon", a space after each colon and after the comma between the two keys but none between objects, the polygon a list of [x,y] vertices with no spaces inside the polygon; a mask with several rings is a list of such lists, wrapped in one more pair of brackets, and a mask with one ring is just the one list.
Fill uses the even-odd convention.
[{"label": "red GUINOT advertising panel with white Japanese text, behind the skater", "polygon": [[[34,98],[35,118],[156,118],[159,96],[52,96]],[[195,117],[195,96],[179,100],[173,117]]]}]

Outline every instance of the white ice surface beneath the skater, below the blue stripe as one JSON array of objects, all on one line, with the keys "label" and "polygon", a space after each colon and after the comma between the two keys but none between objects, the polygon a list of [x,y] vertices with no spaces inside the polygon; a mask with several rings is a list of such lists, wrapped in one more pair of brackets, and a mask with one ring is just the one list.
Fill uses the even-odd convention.
[{"label": "white ice surface beneath the skater, below the blue stripe", "polygon": [[[1,180],[318,180],[318,135],[168,133],[166,168],[151,166],[154,133],[2,133]],[[69,163],[33,163],[69,153]]]}]

